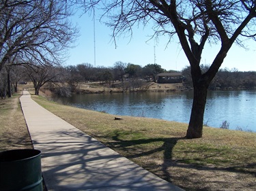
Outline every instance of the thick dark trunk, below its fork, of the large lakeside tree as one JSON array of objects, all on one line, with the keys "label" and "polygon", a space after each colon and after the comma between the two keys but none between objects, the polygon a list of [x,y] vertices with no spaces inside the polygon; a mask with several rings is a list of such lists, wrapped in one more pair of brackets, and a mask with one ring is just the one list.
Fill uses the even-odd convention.
[{"label": "thick dark trunk, below its fork, of the large lakeside tree", "polygon": [[205,82],[194,84],[193,107],[186,137],[189,139],[201,138],[203,135],[203,114],[205,109],[208,86]]}]

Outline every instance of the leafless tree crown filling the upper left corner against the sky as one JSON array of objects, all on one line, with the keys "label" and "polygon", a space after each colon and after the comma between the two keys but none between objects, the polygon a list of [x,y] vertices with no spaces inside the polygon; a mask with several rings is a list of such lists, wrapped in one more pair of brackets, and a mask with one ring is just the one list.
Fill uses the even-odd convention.
[{"label": "leafless tree crown filling the upper left corner against the sky", "polygon": [[0,0],[0,71],[13,57],[59,63],[77,33],[70,10],[65,0]]}]

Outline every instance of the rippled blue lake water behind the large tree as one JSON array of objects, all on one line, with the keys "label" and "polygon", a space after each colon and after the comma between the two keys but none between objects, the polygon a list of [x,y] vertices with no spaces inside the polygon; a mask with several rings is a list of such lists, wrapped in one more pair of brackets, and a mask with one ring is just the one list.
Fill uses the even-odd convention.
[{"label": "rippled blue lake water behind the large tree", "polygon": [[[189,122],[193,92],[131,92],[113,94],[74,94],[61,102],[84,109],[119,116],[140,116]],[[256,91],[208,92],[204,124],[256,132]]]}]

